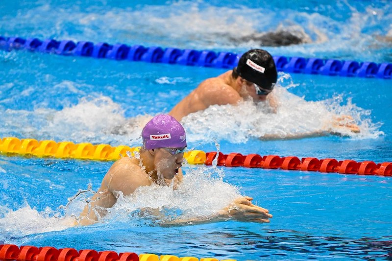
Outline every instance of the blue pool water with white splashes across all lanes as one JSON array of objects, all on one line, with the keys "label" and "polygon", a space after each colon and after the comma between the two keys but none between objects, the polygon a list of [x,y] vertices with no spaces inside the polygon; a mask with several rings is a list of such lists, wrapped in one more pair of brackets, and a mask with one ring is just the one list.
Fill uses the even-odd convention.
[{"label": "blue pool water with white splashes across all lanes", "polygon": [[[283,28],[308,43],[266,47],[273,55],[391,63],[391,14],[389,1],[0,2],[0,35],[241,53],[260,47],[242,36]],[[0,50],[0,68],[0,138],[113,146],[140,145],[151,116],[225,71],[25,50]],[[190,147],[207,152],[217,142],[225,154],[392,162],[390,88],[378,78],[279,72],[277,114],[245,102],[182,123]],[[351,115],[361,133],[258,139],[316,131],[335,114]],[[0,242],[236,260],[391,259],[390,177],[186,165],[180,191],[151,188],[121,199],[100,224],[70,228],[111,164],[0,155]],[[73,200],[79,190],[87,192]],[[271,222],[164,228],[135,217],[144,206],[208,214],[238,194],[269,209]]]}]

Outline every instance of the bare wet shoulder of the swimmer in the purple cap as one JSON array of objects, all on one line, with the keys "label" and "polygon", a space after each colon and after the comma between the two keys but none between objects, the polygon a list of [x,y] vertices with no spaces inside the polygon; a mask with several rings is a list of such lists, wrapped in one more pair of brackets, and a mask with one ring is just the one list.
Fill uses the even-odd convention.
[{"label": "bare wet shoulder of the swimmer in the purple cap", "polygon": [[149,186],[151,181],[146,171],[139,166],[139,160],[123,157],[108,170],[102,181],[102,187],[110,191],[122,191],[129,195],[140,186]]}]

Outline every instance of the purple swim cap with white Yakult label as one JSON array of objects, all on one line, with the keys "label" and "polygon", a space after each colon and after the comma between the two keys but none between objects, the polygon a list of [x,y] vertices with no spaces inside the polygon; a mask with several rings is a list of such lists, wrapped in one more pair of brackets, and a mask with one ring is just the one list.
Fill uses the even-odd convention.
[{"label": "purple swim cap with white Yakult label", "polygon": [[187,146],[184,127],[170,115],[160,114],[148,121],[142,137],[146,149]]}]

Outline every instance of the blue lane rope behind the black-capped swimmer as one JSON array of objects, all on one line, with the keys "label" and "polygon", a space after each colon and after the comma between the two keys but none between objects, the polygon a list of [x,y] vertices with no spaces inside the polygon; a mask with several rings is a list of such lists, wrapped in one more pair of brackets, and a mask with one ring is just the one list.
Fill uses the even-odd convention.
[{"label": "blue lane rope behind the black-capped swimmer", "polygon": [[[242,55],[234,52],[214,52],[172,47],[111,45],[103,42],[94,44],[86,41],[74,43],[70,40],[56,41],[53,39],[42,41],[37,38],[24,39],[21,37],[4,36],[0,36],[0,48],[8,51],[12,49],[27,49],[60,55],[230,69],[237,65]],[[346,77],[392,78],[392,64],[390,63],[377,64],[374,62],[287,56],[273,56],[273,59],[278,71]]]}]

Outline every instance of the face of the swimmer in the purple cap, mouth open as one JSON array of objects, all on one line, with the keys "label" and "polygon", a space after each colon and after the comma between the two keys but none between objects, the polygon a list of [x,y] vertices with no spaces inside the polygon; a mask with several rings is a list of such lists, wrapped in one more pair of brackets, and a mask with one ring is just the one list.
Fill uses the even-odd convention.
[{"label": "face of the swimmer in the purple cap, mouth open", "polygon": [[184,148],[157,148],[154,157],[154,166],[165,179],[172,180],[182,166]]}]

